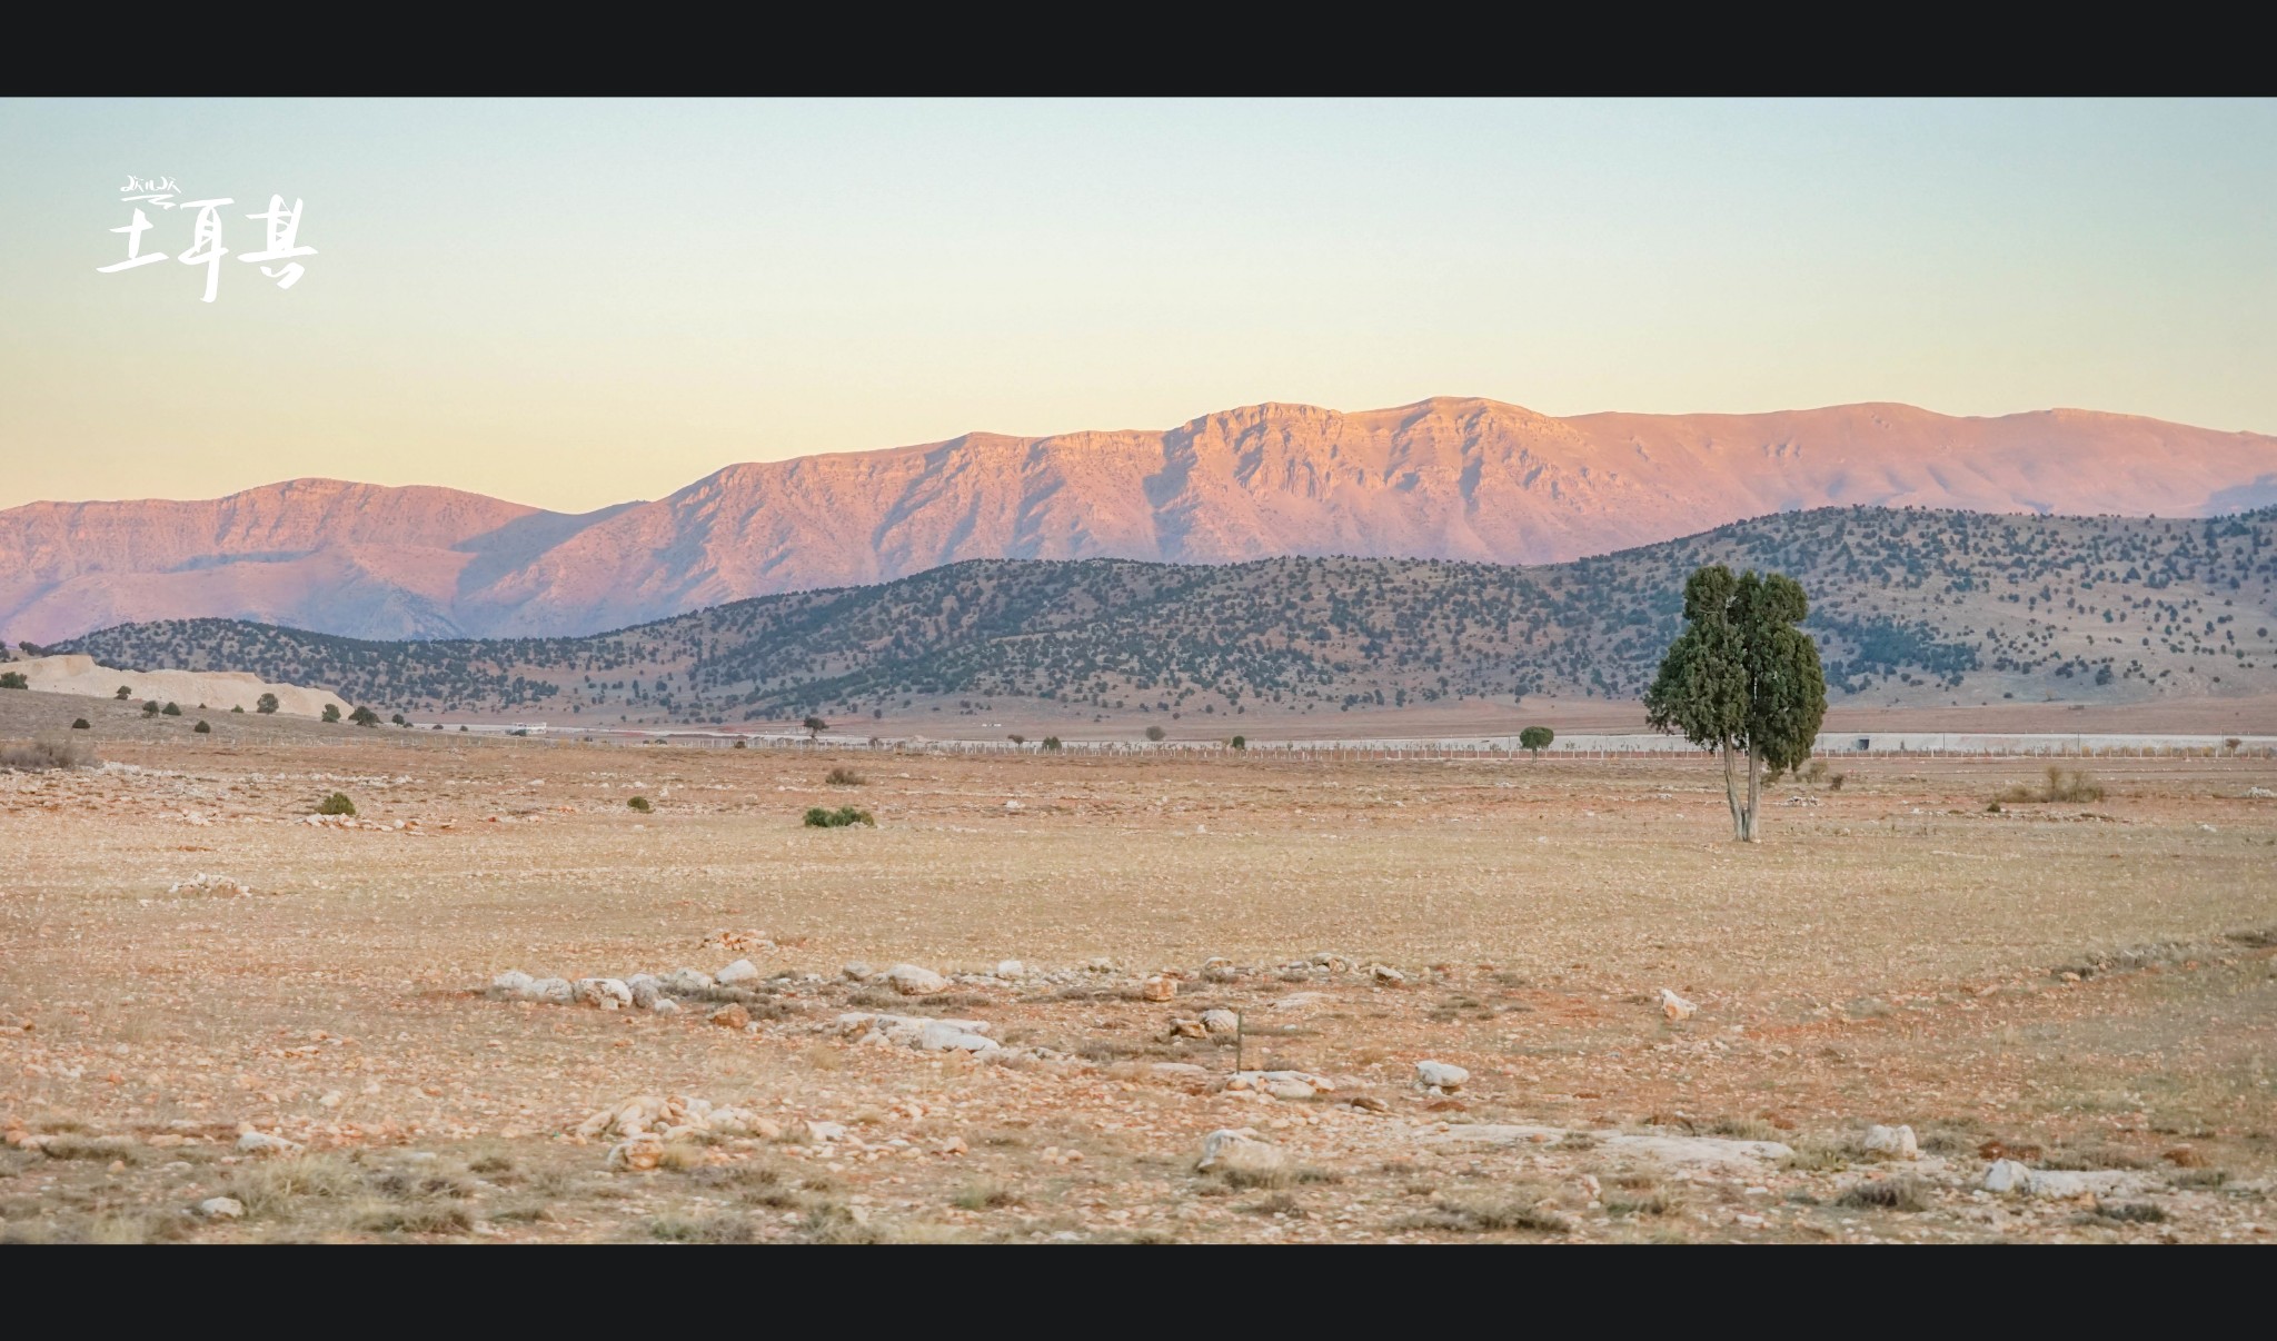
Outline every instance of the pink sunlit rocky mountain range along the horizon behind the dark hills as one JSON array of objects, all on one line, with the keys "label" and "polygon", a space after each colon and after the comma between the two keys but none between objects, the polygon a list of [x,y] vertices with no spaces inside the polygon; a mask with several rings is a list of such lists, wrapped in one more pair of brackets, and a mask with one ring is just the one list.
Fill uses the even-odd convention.
[{"label": "pink sunlit rocky mountain range along the horizon behind the dark hills", "polygon": [[560,635],[970,558],[1557,562],[1831,503],[2216,515],[2277,503],[2277,439],[2086,410],[1551,419],[1432,398],[735,464],[576,517],[294,480],[0,512],[0,633],[216,615],[360,637]]}]

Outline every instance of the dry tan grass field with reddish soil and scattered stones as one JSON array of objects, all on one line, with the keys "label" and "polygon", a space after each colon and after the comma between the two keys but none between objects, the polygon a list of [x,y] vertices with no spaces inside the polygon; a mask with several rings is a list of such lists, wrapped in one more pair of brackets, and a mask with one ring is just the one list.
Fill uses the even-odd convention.
[{"label": "dry tan grass field with reddish soil and scattered stones", "polygon": [[[0,740],[61,710],[0,694]],[[0,1241],[2277,1241],[2270,760],[1997,813],[2029,760],[1835,765],[1740,847],[1703,758],[73,713],[107,767],[0,770]],[[676,1013],[485,990],[738,959]],[[733,1118],[578,1132],[642,1095]]]}]

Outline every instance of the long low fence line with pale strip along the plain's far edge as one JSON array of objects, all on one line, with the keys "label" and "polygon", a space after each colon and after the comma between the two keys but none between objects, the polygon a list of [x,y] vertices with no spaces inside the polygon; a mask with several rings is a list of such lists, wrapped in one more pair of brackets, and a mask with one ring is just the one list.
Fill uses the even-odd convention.
[{"label": "long low fence line with pale strip along the plain's far edge", "polygon": [[[608,744],[608,747],[694,747],[694,749],[765,749],[772,754],[940,754],[940,756],[1029,756],[1047,754],[1041,740],[929,740],[918,735],[802,735],[738,731],[560,731],[544,726],[469,726],[453,731],[458,742],[483,744]],[[1248,740],[1234,749],[1230,740],[1066,740],[1063,756],[1086,758],[1296,758],[1323,763],[1355,760],[1646,760],[1699,754],[1680,735],[1562,735],[1535,756],[1516,735],[1412,738],[1412,740]],[[1965,731],[1885,731],[1819,733],[1812,754],[1826,758],[2277,758],[2277,735],[2129,735],[2129,733],[1965,733]]]}]

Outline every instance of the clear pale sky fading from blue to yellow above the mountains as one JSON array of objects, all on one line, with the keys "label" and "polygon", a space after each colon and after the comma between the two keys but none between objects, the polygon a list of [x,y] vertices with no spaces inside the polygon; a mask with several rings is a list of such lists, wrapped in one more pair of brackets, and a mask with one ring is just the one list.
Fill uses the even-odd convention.
[{"label": "clear pale sky fading from blue to yellow above the mountains", "polygon": [[[587,510],[1259,401],[2277,433],[2277,100],[0,100],[0,508]],[[130,175],[317,255],[100,273]]]}]

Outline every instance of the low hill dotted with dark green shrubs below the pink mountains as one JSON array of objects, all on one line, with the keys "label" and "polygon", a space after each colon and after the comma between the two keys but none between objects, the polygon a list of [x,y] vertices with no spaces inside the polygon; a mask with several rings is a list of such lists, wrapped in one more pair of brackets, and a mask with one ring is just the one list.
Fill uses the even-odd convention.
[{"label": "low hill dotted with dark green shrubs below the pink mountains", "polygon": [[2277,510],[2161,521],[1824,508],[1542,567],[1275,558],[975,560],[590,637],[362,642],[232,619],[55,651],[248,669],[410,715],[747,722],[904,701],[1321,713],[1446,697],[1630,699],[1701,562],[1812,599],[1828,685],[1872,701],[2277,688]]}]

